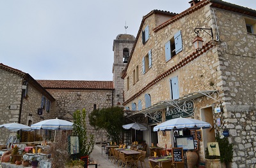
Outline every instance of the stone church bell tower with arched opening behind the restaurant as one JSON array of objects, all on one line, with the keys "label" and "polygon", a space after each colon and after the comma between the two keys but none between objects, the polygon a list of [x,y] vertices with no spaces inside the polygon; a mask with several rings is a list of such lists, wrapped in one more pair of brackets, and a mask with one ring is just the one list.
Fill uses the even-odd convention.
[{"label": "stone church bell tower with arched opening behind the restaurant", "polygon": [[124,80],[121,76],[129,60],[134,41],[134,36],[130,34],[119,34],[113,42],[114,63],[112,73],[115,88],[113,106],[123,106]]}]

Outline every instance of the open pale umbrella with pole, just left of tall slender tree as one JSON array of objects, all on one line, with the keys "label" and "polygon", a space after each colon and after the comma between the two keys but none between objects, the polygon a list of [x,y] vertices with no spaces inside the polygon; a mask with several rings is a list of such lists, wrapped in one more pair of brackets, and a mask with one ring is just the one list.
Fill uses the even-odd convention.
[{"label": "open pale umbrella with pole, just left of tall slender tree", "polygon": [[31,129],[55,130],[55,134],[54,134],[54,141],[55,141],[56,130],[72,130],[73,123],[56,118],[56,119],[44,120],[42,122],[34,123],[31,125]]}]

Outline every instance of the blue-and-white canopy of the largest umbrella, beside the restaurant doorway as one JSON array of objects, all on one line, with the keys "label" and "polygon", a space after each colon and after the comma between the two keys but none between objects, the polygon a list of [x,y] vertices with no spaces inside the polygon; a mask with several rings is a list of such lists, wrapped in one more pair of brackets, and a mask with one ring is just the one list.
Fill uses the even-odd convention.
[{"label": "blue-and-white canopy of the largest umbrella, beside the restaurant doorway", "polygon": [[160,123],[154,127],[154,131],[158,130],[180,130],[180,129],[209,129],[211,124],[201,120],[192,118],[174,118],[166,122]]}]

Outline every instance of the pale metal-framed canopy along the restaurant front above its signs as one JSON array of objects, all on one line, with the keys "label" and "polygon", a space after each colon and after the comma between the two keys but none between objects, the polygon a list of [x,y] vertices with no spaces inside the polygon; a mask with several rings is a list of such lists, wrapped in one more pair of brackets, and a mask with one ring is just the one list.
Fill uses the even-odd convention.
[{"label": "pale metal-framed canopy along the restaurant front above its signs", "polygon": [[[186,102],[192,101],[194,99],[197,99],[202,96],[207,96],[211,99],[213,99],[216,102],[220,102],[214,97],[212,97],[212,94],[218,94],[218,90],[205,90],[205,91],[198,91],[194,92],[192,94],[185,95],[184,97],[180,97],[179,99],[175,100],[168,100],[168,101],[159,101],[156,104],[150,106],[149,108],[143,109],[141,111],[136,111],[135,113],[132,113],[131,115],[127,116],[127,118],[132,118],[132,116],[136,115],[145,115],[148,116],[149,118],[152,118],[152,120],[156,120],[156,115],[159,115],[159,111],[163,109],[168,109],[169,108],[177,108],[180,111],[186,113],[188,116],[193,116],[191,113],[188,113],[188,111],[180,108],[180,104],[184,104]],[[157,121],[159,122],[159,121]]]}]

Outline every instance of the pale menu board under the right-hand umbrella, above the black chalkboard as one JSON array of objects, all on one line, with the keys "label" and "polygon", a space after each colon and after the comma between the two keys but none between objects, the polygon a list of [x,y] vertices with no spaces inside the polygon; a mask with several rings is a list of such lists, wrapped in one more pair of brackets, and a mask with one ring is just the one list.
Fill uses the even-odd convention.
[{"label": "pale menu board under the right-hand umbrella, above the black chalkboard", "polygon": [[182,148],[184,151],[195,150],[193,136],[177,136],[177,147]]}]

